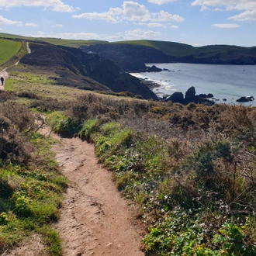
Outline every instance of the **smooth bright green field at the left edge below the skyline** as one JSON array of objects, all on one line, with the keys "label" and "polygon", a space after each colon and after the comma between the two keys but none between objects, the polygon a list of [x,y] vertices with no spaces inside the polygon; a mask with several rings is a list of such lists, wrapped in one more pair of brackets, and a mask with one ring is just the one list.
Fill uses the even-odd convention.
[{"label": "smooth bright green field at the left edge below the skyline", "polygon": [[0,65],[4,64],[6,61],[17,54],[22,47],[22,43],[2,40],[0,39]]}]

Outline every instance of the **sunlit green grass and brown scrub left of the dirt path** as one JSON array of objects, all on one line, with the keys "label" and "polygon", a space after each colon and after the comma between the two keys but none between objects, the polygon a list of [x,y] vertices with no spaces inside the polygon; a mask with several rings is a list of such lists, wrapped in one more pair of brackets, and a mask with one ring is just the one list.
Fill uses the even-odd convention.
[{"label": "sunlit green grass and brown scrub left of the dirt path", "polygon": [[[67,179],[61,175],[43,137],[40,116],[0,93],[0,253],[32,236],[47,244],[44,255],[61,255],[61,240],[51,223],[59,217]],[[35,120],[39,123],[35,123]]]}]

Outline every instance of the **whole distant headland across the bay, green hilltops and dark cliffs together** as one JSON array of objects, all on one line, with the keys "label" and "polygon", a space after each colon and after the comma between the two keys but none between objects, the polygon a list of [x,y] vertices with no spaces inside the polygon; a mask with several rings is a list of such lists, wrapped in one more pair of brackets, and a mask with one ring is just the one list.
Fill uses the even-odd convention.
[{"label": "whole distant headland across the bay, green hilltops and dark cliffs together", "polygon": [[159,40],[130,40],[109,43],[104,40],[63,40],[17,36],[0,33],[0,38],[29,40],[53,45],[80,48],[114,61],[124,71],[147,71],[145,63],[194,63],[194,64],[256,64],[256,47],[209,45],[193,47],[185,43]]}]

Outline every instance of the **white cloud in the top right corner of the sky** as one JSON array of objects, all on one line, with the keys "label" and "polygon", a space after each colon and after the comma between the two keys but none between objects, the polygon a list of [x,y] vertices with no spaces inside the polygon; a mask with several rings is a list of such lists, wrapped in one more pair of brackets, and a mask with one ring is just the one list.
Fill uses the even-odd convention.
[{"label": "white cloud in the top right corner of the sky", "polygon": [[[256,20],[256,1],[255,0],[195,0],[192,5],[201,5],[202,9],[207,6],[216,7],[213,11],[220,11],[218,7],[224,7],[227,11],[237,10],[244,11],[236,16],[229,17],[237,21],[251,21]],[[205,6],[205,7],[203,7]],[[201,10],[202,10],[201,9]]]}]

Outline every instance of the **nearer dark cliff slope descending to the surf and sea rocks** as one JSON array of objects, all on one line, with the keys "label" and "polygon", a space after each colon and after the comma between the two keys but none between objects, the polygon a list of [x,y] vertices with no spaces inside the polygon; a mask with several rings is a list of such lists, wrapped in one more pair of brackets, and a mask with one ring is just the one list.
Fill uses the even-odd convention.
[{"label": "nearer dark cliff slope descending to the surf and sea rocks", "polygon": [[88,90],[132,92],[144,99],[157,99],[154,92],[139,79],[105,57],[46,43],[30,43],[29,47],[32,52],[22,57],[21,63],[54,72],[60,77],[56,78],[58,85]]}]

